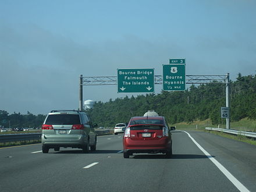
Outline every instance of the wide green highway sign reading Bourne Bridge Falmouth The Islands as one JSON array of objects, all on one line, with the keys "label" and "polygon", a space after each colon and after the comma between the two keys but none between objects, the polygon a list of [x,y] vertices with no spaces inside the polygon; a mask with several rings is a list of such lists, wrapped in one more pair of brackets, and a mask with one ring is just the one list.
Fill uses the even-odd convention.
[{"label": "wide green highway sign reading Bourne Bridge Falmouth The Islands", "polygon": [[154,92],[154,69],[118,69],[118,93]]}]

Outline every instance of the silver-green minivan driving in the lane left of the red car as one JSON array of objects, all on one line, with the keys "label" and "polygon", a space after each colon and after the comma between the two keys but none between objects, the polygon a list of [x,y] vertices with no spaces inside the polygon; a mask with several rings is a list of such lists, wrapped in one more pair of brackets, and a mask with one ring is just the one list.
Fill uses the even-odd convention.
[{"label": "silver-green minivan driving in the lane left of the red car", "polygon": [[81,148],[83,152],[96,150],[97,135],[90,117],[80,111],[56,110],[48,113],[42,125],[42,152],[50,148]]}]

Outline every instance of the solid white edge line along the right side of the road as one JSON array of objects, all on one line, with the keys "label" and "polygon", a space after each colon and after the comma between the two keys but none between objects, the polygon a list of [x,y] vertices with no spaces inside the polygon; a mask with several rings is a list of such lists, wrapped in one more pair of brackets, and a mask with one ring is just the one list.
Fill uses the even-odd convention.
[{"label": "solid white edge line along the right side of the road", "polygon": [[[183,131],[184,133],[187,133],[186,131]],[[197,145],[197,147],[217,166],[219,170],[227,177],[227,179],[230,180],[236,186],[236,188],[239,191],[249,191],[243,184],[239,182],[239,180],[236,179],[221,163],[219,163],[212,155],[210,155],[207,151],[204,150],[204,148],[201,147],[200,144],[197,143],[197,141],[194,140],[193,137],[190,136],[189,133],[187,135],[191,138],[191,140]]]}]

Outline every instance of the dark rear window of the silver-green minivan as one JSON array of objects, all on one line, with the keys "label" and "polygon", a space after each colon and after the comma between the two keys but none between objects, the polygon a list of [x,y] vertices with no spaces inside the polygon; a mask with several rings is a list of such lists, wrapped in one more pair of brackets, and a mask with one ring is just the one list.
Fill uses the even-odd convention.
[{"label": "dark rear window of the silver-green minivan", "polygon": [[48,115],[46,125],[76,125],[81,124],[79,115],[76,114],[56,114]]}]

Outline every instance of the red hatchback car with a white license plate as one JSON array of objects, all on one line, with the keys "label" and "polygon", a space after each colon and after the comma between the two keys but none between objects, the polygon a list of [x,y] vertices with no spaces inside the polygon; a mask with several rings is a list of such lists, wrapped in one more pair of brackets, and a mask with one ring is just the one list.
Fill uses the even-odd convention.
[{"label": "red hatchback car with a white license plate", "polygon": [[163,153],[172,156],[172,133],[163,116],[138,116],[130,119],[123,136],[123,157],[133,153]]}]

